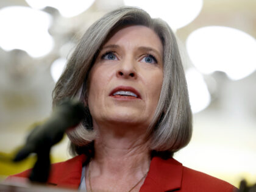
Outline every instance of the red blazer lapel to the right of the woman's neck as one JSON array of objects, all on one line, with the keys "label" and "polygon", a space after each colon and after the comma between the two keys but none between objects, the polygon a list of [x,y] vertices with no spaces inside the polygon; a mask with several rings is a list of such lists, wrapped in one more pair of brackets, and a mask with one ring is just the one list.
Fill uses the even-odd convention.
[{"label": "red blazer lapel to the right of the woman's neck", "polygon": [[174,158],[163,160],[160,157],[154,157],[151,160],[148,176],[140,189],[140,192],[146,191],[172,191],[181,187],[182,183],[182,163]]}]

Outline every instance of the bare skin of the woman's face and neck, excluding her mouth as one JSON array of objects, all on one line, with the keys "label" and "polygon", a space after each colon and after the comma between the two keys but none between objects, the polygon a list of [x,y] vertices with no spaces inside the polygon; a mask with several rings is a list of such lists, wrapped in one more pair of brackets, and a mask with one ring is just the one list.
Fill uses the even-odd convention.
[{"label": "bare skin of the woman's face and neck, excluding her mouth", "polygon": [[[88,91],[93,127],[99,134],[90,163],[93,191],[129,191],[148,172],[145,133],[160,97],[162,60],[162,42],[145,26],[123,27],[102,46]],[[110,94],[119,86],[134,88],[140,98]],[[88,169],[85,174],[90,190]]]}]

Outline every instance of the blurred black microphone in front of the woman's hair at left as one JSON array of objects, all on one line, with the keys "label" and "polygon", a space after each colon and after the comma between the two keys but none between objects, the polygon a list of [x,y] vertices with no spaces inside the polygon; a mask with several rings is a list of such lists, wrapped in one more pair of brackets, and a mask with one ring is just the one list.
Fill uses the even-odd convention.
[{"label": "blurred black microphone in front of the woman's hair at left", "polygon": [[31,153],[37,154],[37,162],[29,179],[34,182],[47,182],[51,166],[49,153],[51,147],[62,140],[65,131],[77,126],[82,121],[85,107],[79,101],[64,99],[55,107],[52,115],[45,123],[36,126],[29,133],[23,148],[13,158],[19,162]]}]

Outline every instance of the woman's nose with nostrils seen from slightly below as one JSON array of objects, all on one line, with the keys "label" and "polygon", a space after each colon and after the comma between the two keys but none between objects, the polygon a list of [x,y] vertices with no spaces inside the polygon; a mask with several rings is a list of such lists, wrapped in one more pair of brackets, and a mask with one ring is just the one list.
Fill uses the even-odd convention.
[{"label": "woman's nose with nostrils seen from slightly below", "polygon": [[135,62],[131,59],[126,59],[119,63],[119,68],[116,71],[116,76],[123,77],[125,79],[137,79],[137,70],[135,69]]}]

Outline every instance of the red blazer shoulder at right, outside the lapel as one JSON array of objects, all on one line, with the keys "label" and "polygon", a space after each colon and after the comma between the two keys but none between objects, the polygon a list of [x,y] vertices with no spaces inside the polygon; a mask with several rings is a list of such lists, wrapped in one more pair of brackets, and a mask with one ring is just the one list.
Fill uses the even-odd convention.
[{"label": "red blazer shoulder at right, outside the lapel", "polygon": [[[188,191],[234,191],[230,183],[183,166],[182,188]],[[191,190],[193,188],[193,190]],[[185,190],[185,191],[186,191]]]}]

